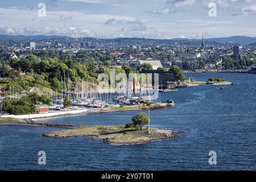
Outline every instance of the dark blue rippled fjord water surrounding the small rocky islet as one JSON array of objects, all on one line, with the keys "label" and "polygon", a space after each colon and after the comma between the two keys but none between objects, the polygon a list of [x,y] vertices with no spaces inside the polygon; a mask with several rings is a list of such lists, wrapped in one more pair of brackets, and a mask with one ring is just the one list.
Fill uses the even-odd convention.
[{"label": "dark blue rippled fjord water surrounding the small rocky islet", "polygon": [[[61,130],[37,126],[0,126],[1,170],[248,170],[256,169],[256,75],[187,73],[197,81],[222,76],[235,85],[195,86],[161,93],[161,101],[189,100],[174,108],[151,110],[151,127],[185,131],[172,140],[109,145],[90,137],[55,139]],[[140,111],[39,119],[81,125],[124,125]],[[145,111],[146,112],[146,111]],[[39,166],[38,151],[46,151]],[[209,165],[209,151],[217,165]]]}]

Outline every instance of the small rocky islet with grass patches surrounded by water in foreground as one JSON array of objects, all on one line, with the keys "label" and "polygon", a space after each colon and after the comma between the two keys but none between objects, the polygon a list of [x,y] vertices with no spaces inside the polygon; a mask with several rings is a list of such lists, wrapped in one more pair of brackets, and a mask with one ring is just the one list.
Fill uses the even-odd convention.
[{"label": "small rocky islet with grass patches surrounded by water in foreground", "polygon": [[124,126],[81,126],[77,129],[53,131],[43,134],[44,137],[68,138],[92,135],[92,140],[103,140],[108,144],[135,144],[146,143],[153,140],[172,139],[177,137],[181,131],[148,129],[138,130],[135,128],[126,129]]}]

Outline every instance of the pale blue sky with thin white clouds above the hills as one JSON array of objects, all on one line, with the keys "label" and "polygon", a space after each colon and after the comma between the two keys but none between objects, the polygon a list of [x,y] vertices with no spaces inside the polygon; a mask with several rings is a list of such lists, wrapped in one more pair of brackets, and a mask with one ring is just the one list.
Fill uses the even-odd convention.
[{"label": "pale blue sky with thin white clouds above the hills", "polygon": [[154,39],[256,36],[256,0],[0,0],[0,34]]}]

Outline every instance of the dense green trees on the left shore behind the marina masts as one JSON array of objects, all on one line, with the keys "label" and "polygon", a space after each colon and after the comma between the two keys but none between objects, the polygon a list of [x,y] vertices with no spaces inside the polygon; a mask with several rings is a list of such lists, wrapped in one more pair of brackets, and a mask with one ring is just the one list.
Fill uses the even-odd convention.
[{"label": "dense green trees on the left shore behind the marina masts", "polygon": [[[51,53],[52,51],[47,52],[52,56],[55,55]],[[76,59],[79,59],[79,57],[85,59],[82,56],[77,54]],[[92,60],[77,61],[76,59],[59,60],[56,57],[40,58],[36,55],[29,55],[22,59],[14,58],[10,61],[5,61],[0,64],[1,77],[3,77],[0,79],[0,88],[5,91],[9,91],[11,88],[15,92],[28,90],[32,87],[48,88],[55,91],[61,89],[61,81],[64,84],[64,78],[66,82],[68,79],[71,81],[71,86],[74,86],[77,81],[82,79],[97,83],[98,74],[107,73],[109,75],[109,70],[113,68],[102,66],[104,64],[103,60],[109,60],[108,55],[100,56],[95,63]],[[96,65],[98,69],[89,69],[92,65]],[[7,78],[11,69],[22,71],[26,75],[14,77],[13,79]],[[114,69],[116,69],[116,73],[125,73],[121,68],[114,67]]]}]

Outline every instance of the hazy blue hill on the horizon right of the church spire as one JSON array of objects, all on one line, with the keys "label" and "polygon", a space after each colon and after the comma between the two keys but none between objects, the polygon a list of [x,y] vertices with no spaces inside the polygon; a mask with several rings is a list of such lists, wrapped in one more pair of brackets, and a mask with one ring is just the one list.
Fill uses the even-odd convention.
[{"label": "hazy blue hill on the horizon right of the church spire", "polygon": [[256,38],[250,37],[250,36],[230,36],[229,38],[210,38],[205,40],[210,42],[220,42],[220,43],[232,42],[232,43],[241,44],[243,46],[256,42]]}]

